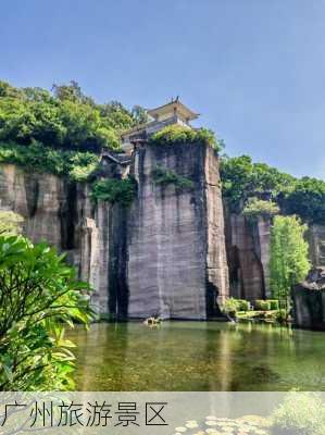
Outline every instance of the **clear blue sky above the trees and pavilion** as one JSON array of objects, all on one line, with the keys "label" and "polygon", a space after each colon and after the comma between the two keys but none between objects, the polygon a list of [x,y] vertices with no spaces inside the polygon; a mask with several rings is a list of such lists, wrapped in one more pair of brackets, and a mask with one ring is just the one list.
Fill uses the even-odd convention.
[{"label": "clear blue sky above the trees and pavilion", "polygon": [[325,1],[2,0],[0,77],[99,101],[179,96],[229,156],[325,178]]}]

